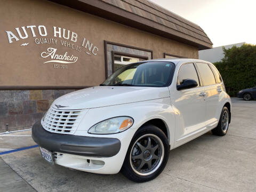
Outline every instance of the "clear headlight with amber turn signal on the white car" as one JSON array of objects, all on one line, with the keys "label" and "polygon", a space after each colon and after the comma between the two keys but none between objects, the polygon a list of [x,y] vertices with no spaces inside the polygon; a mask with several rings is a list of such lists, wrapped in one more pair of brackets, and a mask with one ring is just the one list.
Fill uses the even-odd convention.
[{"label": "clear headlight with amber turn signal on the white car", "polygon": [[91,134],[112,134],[119,133],[129,129],[133,124],[131,117],[114,117],[106,119],[100,123],[93,125],[88,133]]}]

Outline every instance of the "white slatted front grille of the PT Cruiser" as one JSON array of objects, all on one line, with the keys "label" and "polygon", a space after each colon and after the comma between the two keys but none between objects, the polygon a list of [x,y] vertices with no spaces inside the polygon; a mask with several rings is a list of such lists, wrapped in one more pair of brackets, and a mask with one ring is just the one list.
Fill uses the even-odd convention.
[{"label": "white slatted front grille of the PT Cruiser", "polygon": [[50,132],[73,134],[84,115],[83,112],[83,110],[59,110],[51,107],[42,125]]}]

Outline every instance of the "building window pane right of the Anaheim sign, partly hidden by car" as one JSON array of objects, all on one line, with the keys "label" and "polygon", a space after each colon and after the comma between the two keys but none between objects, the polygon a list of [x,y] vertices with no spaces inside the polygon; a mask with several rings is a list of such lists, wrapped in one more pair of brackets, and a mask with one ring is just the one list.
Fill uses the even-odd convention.
[{"label": "building window pane right of the Anaheim sign, partly hidden by car", "polygon": [[143,60],[145,60],[145,59],[133,58],[133,57],[127,57],[127,56],[114,54],[114,72],[125,65],[128,65],[128,64],[131,64],[134,62],[143,61]]}]

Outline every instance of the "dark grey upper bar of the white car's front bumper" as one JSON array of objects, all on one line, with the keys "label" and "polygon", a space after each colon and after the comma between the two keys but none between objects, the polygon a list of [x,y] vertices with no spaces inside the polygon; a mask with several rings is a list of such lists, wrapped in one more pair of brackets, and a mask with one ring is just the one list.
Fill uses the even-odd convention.
[{"label": "dark grey upper bar of the white car's front bumper", "polygon": [[41,147],[60,153],[111,157],[118,153],[121,142],[116,138],[84,137],[46,131],[40,122],[33,125],[32,138]]}]

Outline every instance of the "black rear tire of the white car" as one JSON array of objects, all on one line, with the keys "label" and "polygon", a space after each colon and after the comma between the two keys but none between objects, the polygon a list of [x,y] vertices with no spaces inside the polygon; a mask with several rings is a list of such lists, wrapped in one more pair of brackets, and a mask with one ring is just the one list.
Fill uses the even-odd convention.
[{"label": "black rear tire of the white car", "polygon": [[[225,121],[226,124],[224,126],[222,120],[225,119],[225,114],[227,115],[227,119]],[[221,114],[220,114],[220,119],[219,119],[219,123],[217,125],[217,127],[215,127],[213,130],[212,130],[212,134],[214,135],[218,135],[218,136],[223,136],[223,135],[226,135],[226,133],[228,132],[228,126],[229,126],[229,119],[230,119],[230,115],[229,115],[229,110],[227,107],[223,107],[222,111],[221,111]]]}]

